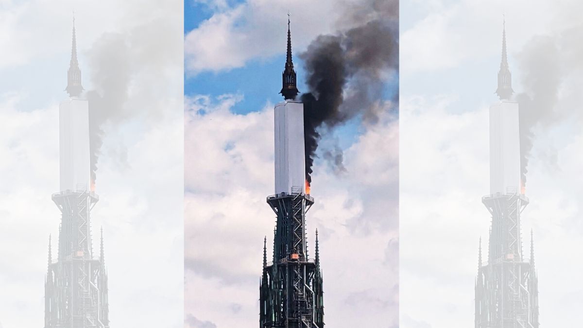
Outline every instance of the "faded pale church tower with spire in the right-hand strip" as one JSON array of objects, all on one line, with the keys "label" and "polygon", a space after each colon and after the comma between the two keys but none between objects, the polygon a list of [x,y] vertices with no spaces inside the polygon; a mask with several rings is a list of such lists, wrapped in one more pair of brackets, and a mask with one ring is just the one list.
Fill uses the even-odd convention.
[{"label": "faded pale church tower with spire in the right-hand strip", "polygon": [[490,107],[490,194],[482,203],[491,215],[488,260],[478,251],[475,285],[476,328],[539,328],[538,277],[531,233],[531,258],[522,250],[521,215],[529,200],[520,181],[518,103],[512,102],[511,75],[503,29],[502,62]]}]

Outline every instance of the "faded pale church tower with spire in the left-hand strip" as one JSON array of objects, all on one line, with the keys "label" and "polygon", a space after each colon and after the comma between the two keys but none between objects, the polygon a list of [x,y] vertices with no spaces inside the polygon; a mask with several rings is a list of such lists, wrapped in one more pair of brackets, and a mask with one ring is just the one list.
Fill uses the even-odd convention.
[{"label": "faded pale church tower with spire in the left-hand strip", "polygon": [[90,213],[99,197],[90,183],[89,104],[82,97],[75,19],[67,78],[69,99],[59,106],[60,191],[52,195],[61,225],[57,261],[49,238],[44,327],[108,328],[103,229],[99,254],[93,253]]}]

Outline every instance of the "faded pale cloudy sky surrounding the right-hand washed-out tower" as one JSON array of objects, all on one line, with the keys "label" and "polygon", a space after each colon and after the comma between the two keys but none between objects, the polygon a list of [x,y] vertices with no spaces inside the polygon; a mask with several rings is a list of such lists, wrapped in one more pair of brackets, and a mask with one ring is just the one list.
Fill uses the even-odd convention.
[{"label": "faded pale cloudy sky surrounding the right-hand washed-out tower", "polygon": [[[401,7],[401,326],[473,325],[489,213],[488,109],[503,13],[515,92],[556,93],[535,125],[522,236],[535,238],[540,323],[583,319],[578,1],[410,1]],[[553,88],[551,88],[553,87]],[[551,89],[549,89],[551,88]],[[526,113],[535,115],[537,113]],[[528,256],[528,251],[525,252]]]}]

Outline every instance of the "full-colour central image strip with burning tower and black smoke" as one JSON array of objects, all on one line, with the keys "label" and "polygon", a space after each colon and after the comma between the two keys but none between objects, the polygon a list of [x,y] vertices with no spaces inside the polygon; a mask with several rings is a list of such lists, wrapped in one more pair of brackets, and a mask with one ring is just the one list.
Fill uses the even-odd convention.
[{"label": "full-colour central image strip with burning tower and black smoke", "polygon": [[185,326],[398,327],[398,2],[187,1],[184,41]]}]

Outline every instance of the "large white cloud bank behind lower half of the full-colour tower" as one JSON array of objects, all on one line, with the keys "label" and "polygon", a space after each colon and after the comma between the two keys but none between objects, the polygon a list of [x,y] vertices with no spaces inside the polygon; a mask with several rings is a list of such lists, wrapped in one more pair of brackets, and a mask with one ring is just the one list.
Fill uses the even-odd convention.
[{"label": "large white cloud bank behind lower half of the full-colour tower", "polygon": [[[273,193],[272,104],[233,114],[238,99],[195,96],[185,117],[185,159],[192,163],[185,181],[185,310],[218,328],[257,325],[262,241],[267,236],[270,256],[275,224],[265,203]],[[318,228],[331,326],[397,324],[397,128],[388,119],[364,132],[345,149],[342,177],[317,161],[308,243],[313,250]],[[374,158],[387,163],[369,165]]]}]

